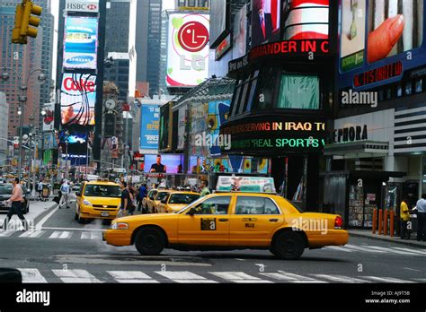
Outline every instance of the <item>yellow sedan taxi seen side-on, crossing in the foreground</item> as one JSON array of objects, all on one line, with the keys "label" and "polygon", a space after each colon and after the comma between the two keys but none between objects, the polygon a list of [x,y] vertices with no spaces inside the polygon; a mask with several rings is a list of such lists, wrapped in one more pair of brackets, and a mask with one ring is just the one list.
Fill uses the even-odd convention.
[{"label": "yellow sedan taxi seen side-on, crossing in the foreground", "polygon": [[103,240],[135,245],[141,255],[178,250],[269,249],[281,259],[297,259],[305,248],[348,242],[336,214],[301,212],[279,195],[216,193],[177,213],[145,214],[112,221]]}]

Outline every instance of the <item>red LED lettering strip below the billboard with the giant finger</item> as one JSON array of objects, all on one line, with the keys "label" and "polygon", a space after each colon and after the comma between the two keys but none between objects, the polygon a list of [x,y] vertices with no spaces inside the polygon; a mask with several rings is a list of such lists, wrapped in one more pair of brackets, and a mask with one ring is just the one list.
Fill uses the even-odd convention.
[{"label": "red LED lettering strip below the billboard with the giant finger", "polygon": [[370,83],[381,82],[386,79],[391,79],[400,76],[403,73],[403,62],[399,61],[393,64],[378,67],[371,71],[356,74],[353,77],[353,86],[355,88],[362,87]]}]

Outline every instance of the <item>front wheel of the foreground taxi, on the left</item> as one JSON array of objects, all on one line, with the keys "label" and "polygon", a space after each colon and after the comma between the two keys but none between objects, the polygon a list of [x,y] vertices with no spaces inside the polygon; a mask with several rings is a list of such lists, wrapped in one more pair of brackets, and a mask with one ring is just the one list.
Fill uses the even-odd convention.
[{"label": "front wheel of the foreground taxi, on the left", "polygon": [[160,255],[165,246],[164,235],[155,228],[139,230],[135,237],[135,246],[140,255]]}]

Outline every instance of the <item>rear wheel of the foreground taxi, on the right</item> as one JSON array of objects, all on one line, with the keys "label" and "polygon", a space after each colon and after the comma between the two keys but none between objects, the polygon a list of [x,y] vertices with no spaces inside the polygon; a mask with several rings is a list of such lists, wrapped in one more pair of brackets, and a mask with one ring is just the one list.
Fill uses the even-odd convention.
[{"label": "rear wheel of the foreground taxi, on the right", "polygon": [[280,259],[296,260],[304,250],[303,238],[294,232],[282,232],[274,238],[271,253]]}]

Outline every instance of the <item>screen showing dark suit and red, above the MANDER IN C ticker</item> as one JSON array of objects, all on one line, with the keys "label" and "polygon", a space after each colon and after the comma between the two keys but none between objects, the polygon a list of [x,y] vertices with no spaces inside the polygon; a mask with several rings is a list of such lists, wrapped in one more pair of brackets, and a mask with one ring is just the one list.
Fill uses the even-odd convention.
[{"label": "screen showing dark suit and red, above the MANDER IN C ticker", "polygon": [[280,32],[281,0],[253,0],[252,47]]}]

